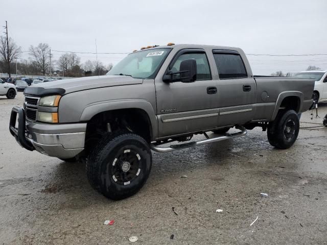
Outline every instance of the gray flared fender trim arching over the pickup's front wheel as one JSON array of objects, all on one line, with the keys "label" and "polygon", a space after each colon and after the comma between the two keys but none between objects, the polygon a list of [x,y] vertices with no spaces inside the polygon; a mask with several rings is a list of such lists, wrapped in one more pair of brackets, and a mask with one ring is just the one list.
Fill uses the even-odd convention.
[{"label": "gray flared fender trim arching over the pickup's front wheel", "polygon": [[156,138],[158,136],[157,117],[151,103],[142,99],[111,100],[90,104],[83,110],[80,121],[88,121],[101,112],[132,108],[141,109],[148,114],[151,121],[153,138]]}]

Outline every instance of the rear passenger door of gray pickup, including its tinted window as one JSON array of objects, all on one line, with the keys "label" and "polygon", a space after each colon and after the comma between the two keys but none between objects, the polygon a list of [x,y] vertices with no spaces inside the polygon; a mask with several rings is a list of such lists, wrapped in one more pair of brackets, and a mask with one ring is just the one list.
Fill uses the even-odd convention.
[{"label": "rear passenger door of gray pickup, including its tinted window", "polygon": [[230,50],[213,50],[213,55],[219,74],[219,127],[252,120],[256,84],[248,76],[241,55]]}]

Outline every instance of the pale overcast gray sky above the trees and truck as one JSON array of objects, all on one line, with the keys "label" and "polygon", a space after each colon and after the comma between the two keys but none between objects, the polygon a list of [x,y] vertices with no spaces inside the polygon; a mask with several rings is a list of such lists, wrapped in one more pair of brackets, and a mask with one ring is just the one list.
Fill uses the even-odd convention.
[{"label": "pale overcast gray sky above the trees and truck", "polygon": [[[327,1],[2,1],[0,26],[28,51],[40,42],[52,50],[126,53],[168,42],[241,47],[247,54],[327,54]],[[4,29],[2,29],[4,31]],[[54,60],[61,53],[53,52]],[[95,55],[79,54],[82,62]],[[98,55],[117,63],[124,55]],[[24,53],[21,58],[28,58]],[[327,69],[327,55],[248,56],[255,75]]]}]

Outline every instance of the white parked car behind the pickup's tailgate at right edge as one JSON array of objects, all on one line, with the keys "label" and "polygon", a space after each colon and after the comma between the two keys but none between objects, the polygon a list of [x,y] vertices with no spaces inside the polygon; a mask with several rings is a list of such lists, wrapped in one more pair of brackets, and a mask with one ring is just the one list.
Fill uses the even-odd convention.
[{"label": "white parked car behind the pickup's tailgate at right edge", "polygon": [[315,88],[312,99],[318,102],[327,101],[327,70],[300,71],[293,78],[309,78],[315,80]]}]

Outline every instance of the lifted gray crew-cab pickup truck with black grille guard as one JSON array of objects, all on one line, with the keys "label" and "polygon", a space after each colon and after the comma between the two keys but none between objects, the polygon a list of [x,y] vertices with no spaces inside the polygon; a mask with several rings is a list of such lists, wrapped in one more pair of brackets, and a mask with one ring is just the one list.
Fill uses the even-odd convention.
[{"label": "lifted gray crew-cab pickup truck with black grille guard", "polygon": [[[10,132],[29,151],[85,159],[90,184],[118,200],[145,184],[151,150],[182,150],[254,127],[267,129],[275,148],[289,148],[299,132],[297,114],[313,104],[313,88],[310,79],[254,77],[240,48],[148,46],[106,76],[26,88],[24,108],[12,109]],[[233,127],[238,131],[227,133]],[[195,134],[205,137],[192,141]]]}]

